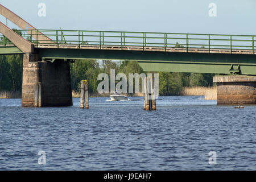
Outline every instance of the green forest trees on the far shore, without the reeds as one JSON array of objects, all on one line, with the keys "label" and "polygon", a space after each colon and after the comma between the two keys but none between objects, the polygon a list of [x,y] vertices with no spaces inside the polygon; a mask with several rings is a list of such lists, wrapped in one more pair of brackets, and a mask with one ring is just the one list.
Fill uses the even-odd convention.
[{"label": "green forest trees on the far shore, without the reeds", "polygon": [[[0,92],[22,90],[22,55],[0,55]],[[115,74],[143,73],[137,61],[77,60],[70,63],[72,89],[79,91],[81,80],[89,80],[89,92],[97,93],[97,76],[115,69]],[[147,72],[144,72],[147,73]],[[179,95],[184,86],[212,86],[214,74],[159,72],[159,94]]]}]

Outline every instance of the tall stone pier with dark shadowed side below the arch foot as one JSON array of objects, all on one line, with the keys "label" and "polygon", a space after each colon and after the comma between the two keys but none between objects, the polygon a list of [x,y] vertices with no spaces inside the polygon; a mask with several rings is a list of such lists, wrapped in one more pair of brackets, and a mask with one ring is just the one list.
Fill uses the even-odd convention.
[{"label": "tall stone pier with dark shadowed side below the arch foot", "polygon": [[41,83],[41,106],[71,106],[71,76],[69,63],[55,60],[39,61],[39,55],[24,53],[22,106],[35,106],[35,85]]}]

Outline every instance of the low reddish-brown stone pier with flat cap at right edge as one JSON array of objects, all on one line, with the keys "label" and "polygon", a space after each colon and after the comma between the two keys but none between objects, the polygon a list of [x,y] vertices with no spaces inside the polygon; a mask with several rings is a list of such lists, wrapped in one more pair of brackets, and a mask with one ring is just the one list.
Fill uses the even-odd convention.
[{"label": "low reddish-brown stone pier with flat cap at right edge", "polygon": [[215,76],[218,105],[256,104],[256,76]]}]

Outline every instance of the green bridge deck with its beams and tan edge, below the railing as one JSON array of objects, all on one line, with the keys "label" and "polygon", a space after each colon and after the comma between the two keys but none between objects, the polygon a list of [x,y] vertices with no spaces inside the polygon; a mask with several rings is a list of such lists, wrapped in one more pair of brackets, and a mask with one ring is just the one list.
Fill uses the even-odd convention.
[{"label": "green bridge deck with its beams and tan edge, below the railing", "polygon": [[[41,59],[136,60],[144,71],[256,75],[256,52],[248,49],[37,44]],[[232,51],[232,52],[231,52]],[[14,45],[0,54],[22,53]]]}]

